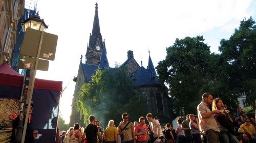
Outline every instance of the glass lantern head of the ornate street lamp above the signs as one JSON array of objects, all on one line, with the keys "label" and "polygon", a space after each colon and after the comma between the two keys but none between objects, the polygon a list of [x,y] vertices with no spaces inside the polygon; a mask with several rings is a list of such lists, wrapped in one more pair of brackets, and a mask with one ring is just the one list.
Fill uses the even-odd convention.
[{"label": "glass lantern head of the ornate street lamp above the signs", "polygon": [[39,13],[37,11],[36,15],[32,15],[27,20],[22,21],[23,32],[26,32],[28,27],[38,31],[46,31],[48,25],[46,25],[44,19],[40,19]]}]

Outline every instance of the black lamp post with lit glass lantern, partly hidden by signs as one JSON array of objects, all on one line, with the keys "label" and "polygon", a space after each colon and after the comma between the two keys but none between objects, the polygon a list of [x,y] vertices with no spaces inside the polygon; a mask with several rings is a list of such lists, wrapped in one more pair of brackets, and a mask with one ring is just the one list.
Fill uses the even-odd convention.
[{"label": "black lamp post with lit glass lantern, partly hidden by signs", "polygon": [[[40,19],[40,16],[38,15],[38,12],[36,15],[30,16],[27,20],[22,21],[22,28],[23,32],[26,32],[27,28],[33,28],[34,30],[38,31],[46,31],[46,28],[48,28],[48,25],[44,22],[44,19]],[[35,74],[35,72],[34,72]],[[22,142],[24,143],[25,141],[25,135],[26,135],[26,130],[27,130],[27,124],[28,124],[28,116],[29,116],[29,108],[26,113],[26,118],[24,119],[24,109],[26,107],[26,104],[28,104],[28,107],[31,105],[31,99],[28,100],[27,94],[29,94],[29,84],[31,84],[30,80],[30,75],[31,75],[31,70],[30,69],[25,69],[25,75],[24,75],[24,83],[23,83],[23,89],[22,89],[22,98],[21,98],[21,104],[19,108],[19,122],[18,122],[18,127],[17,127],[17,132],[15,136],[15,142]],[[35,76],[35,75],[34,75]],[[34,77],[31,77],[34,78]],[[34,81],[33,81],[34,84]],[[33,92],[33,90],[32,90]],[[32,95],[32,93],[31,93]],[[32,98],[32,97],[31,97]]]}]

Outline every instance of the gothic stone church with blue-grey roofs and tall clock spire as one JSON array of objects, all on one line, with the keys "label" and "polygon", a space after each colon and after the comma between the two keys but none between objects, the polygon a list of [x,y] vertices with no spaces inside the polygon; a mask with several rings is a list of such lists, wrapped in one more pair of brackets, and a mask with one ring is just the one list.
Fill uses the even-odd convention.
[{"label": "gothic stone church with blue-grey roofs and tall clock spire", "polygon": [[[76,104],[82,83],[91,82],[91,77],[95,74],[96,69],[109,68],[111,71],[114,71],[114,68],[109,66],[106,56],[105,41],[102,40],[100,33],[98,4],[96,3],[95,5],[93,30],[90,34],[89,44],[87,46],[86,63],[82,63],[81,55],[77,78],[74,80],[76,81],[76,85],[72,101],[70,126],[73,126],[74,123],[79,123],[82,127],[84,126],[83,119],[80,119],[80,112],[77,112]],[[130,76],[134,84],[140,89],[141,94],[146,97],[148,111],[161,112],[167,119],[170,119],[168,89],[158,82],[150,54],[148,56],[147,68],[144,68],[142,65],[140,66],[135,61],[133,51],[131,50],[127,51],[127,60],[121,66],[127,67],[128,76]]]}]

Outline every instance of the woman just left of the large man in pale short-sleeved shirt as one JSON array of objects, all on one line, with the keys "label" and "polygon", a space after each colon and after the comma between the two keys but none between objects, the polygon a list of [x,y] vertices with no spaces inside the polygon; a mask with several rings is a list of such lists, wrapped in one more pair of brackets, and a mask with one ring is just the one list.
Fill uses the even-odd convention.
[{"label": "woman just left of the large man in pale short-sleeved shirt", "polygon": [[189,128],[191,130],[193,138],[195,139],[195,142],[202,143],[198,118],[196,118],[194,114],[189,114],[189,119]]}]

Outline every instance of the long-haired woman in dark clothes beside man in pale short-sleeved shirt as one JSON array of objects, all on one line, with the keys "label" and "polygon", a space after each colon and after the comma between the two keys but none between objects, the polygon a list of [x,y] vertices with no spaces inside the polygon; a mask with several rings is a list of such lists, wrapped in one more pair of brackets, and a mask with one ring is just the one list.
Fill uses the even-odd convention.
[{"label": "long-haired woman in dark clothes beside man in pale short-sleeved shirt", "polygon": [[[223,108],[224,107],[224,108]],[[215,98],[212,102],[212,110],[223,110],[222,115],[216,115],[218,127],[220,129],[220,142],[221,143],[239,143],[236,136],[232,134],[234,132],[233,120],[230,118],[228,111],[226,110],[221,98]]]}]

